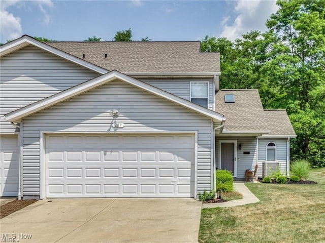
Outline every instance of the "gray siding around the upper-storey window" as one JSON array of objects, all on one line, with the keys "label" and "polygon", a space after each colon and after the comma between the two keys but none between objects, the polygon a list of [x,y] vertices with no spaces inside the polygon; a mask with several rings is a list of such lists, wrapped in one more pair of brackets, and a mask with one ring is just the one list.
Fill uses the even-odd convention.
[{"label": "gray siding around the upper-storey window", "polygon": [[173,95],[179,96],[189,101],[190,82],[209,82],[209,99],[208,108],[213,109],[214,103],[214,86],[212,78],[179,78],[179,79],[144,79],[141,81],[152,85],[160,90],[164,90]]}]

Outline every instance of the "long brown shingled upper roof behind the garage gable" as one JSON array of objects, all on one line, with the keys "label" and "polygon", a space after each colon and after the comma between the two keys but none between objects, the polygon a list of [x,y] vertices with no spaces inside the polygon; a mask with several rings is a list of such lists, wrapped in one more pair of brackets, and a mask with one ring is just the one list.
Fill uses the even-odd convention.
[{"label": "long brown shingled upper roof behind the garage gable", "polygon": [[126,74],[220,72],[219,53],[200,52],[200,42],[46,42],[46,44],[107,70],[117,70]]}]

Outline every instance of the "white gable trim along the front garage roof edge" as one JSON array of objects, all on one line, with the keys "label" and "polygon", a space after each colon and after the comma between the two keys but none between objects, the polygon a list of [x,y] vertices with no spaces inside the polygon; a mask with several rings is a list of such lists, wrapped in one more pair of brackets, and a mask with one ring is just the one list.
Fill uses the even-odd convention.
[{"label": "white gable trim along the front garage roof edge", "polygon": [[176,104],[179,104],[183,107],[194,110],[194,111],[196,111],[200,114],[203,114],[205,116],[208,116],[212,119],[225,120],[225,117],[223,117],[221,114],[219,114],[215,111],[209,110],[209,109],[204,108],[197,104],[193,104],[193,103],[191,103],[187,100],[184,100],[178,96],[172,95],[168,92],[165,92],[165,91],[157,89],[153,86],[147,85],[140,80],[137,80],[133,77],[127,76],[127,75],[120,73],[118,71],[111,71],[109,73],[103,74],[102,76],[90,79],[87,82],[82,83],[77,86],[74,86],[68,90],[64,90],[60,93],[52,95],[52,96],[45,98],[41,101],[35,102],[33,104],[30,104],[28,106],[20,108],[16,111],[10,112],[6,115],[6,119],[9,121],[19,120],[27,115],[31,115],[33,113],[36,113],[40,110],[43,110],[43,109],[49,107],[49,106],[55,105],[59,102],[70,99],[76,95],[79,95],[79,94],[84,93],[88,90],[91,90],[93,88],[101,86],[105,83],[111,82],[112,80],[115,80],[116,78],[122,80],[123,82],[125,82],[129,85],[143,89],[151,94],[160,96],[164,99],[167,99],[167,100],[174,102]]}]

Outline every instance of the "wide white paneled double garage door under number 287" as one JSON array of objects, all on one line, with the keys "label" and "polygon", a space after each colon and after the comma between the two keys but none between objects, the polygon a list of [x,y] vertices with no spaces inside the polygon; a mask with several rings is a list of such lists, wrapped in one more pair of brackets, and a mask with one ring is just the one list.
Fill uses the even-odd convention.
[{"label": "wide white paneled double garage door under number 287", "polygon": [[194,137],[47,135],[47,197],[193,197]]}]

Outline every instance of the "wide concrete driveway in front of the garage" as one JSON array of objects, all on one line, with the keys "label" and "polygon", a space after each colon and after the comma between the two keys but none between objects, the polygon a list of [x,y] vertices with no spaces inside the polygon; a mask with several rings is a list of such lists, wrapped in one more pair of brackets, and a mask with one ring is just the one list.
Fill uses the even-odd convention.
[{"label": "wide concrete driveway in front of the garage", "polygon": [[200,217],[194,199],[46,199],[3,218],[1,235],[29,243],[198,242]]}]

